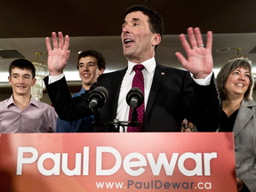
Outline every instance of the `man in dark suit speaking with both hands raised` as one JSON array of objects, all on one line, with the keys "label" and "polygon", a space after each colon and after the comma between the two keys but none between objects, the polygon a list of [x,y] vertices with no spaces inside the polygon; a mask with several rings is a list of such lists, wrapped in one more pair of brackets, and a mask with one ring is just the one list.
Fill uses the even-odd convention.
[{"label": "man in dark suit speaking with both hands raised", "polygon": [[[156,46],[161,42],[164,30],[163,20],[156,12],[145,6],[132,6],[126,11],[122,28],[121,38],[128,68],[101,75],[90,89],[104,86],[108,90],[108,100],[100,108],[102,121],[128,120],[130,107],[125,97],[132,88],[135,75],[132,68],[142,64],[145,67],[142,70],[145,91],[142,132],[180,132],[180,124],[185,117],[201,131],[204,131],[204,126],[208,131],[216,131],[220,122],[220,101],[212,75],[212,32],[207,33],[206,48],[199,28],[188,28],[192,49],[186,37],[180,35],[188,60],[180,52],[176,55],[183,67],[192,74],[192,79],[188,71],[167,68],[156,62]],[[68,36],[65,36],[64,43],[59,32],[58,44],[56,34],[52,33],[52,41],[53,50],[50,39],[46,37],[50,76],[44,82],[54,108],[65,120],[91,116],[88,92],[72,99],[63,75],[69,56]],[[94,127],[94,132],[106,130],[105,125]]]}]

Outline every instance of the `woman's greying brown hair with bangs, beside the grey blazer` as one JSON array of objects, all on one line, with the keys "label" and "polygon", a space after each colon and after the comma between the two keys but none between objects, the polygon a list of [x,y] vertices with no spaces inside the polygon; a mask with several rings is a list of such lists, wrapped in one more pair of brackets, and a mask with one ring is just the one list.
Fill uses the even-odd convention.
[{"label": "woman's greying brown hair with bangs, beside the grey blazer", "polygon": [[225,84],[228,81],[228,76],[236,68],[245,68],[245,69],[249,70],[250,84],[248,86],[247,91],[244,93],[244,100],[251,100],[252,99],[252,88],[253,88],[252,66],[246,60],[231,60],[220,69],[220,72],[216,78],[217,87],[220,92],[220,98],[221,98],[221,100],[226,100],[225,95],[227,95],[227,90],[225,88]]}]

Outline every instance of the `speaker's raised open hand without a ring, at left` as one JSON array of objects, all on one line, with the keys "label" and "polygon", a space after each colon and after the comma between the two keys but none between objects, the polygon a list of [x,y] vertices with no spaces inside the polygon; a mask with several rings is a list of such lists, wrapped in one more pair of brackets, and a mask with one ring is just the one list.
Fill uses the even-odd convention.
[{"label": "speaker's raised open hand without a ring, at left", "polygon": [[64,43],[64,39],[61,32],[58,33],[58,36],[59,36],[59,44],[58,44],[56,33],[52,32],[53,49],[50,43],[50,38],[49,37],[45,38],[46,47],[48,51],[47,64],[48,64],[49,74],[51,76],[59,76],[60,74],[63,73],[63,69],[68,63],[68,58],[70,54],[70,51],[68,50],[69,37],[65,36],[65,43]]}]

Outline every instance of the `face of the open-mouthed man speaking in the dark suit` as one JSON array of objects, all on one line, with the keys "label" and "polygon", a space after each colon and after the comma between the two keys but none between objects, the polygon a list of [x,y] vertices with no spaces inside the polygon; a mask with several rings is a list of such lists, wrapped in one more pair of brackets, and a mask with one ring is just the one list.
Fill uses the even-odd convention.
[{"label": "face of the open-mouthed man speaking in the dark suit", "polygon": [[147,15],[143,12],[130,12],[122,26],[124,56],[137,63],[152,58],[155,55],[155,36],[149,29]]}]

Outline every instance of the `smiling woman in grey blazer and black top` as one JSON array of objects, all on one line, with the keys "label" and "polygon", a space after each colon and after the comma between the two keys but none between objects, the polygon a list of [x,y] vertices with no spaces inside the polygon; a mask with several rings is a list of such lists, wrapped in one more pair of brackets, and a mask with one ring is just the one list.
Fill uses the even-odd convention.
[{"label": "smiling woman in grey blazer and black top", "polygon": [[232,60],[220,69],[217,86],[222,100],[220,132],[234,132],[238,191],[255,191],[256,102],[252,100],[252,66]]}]

